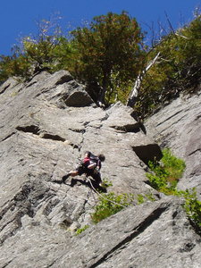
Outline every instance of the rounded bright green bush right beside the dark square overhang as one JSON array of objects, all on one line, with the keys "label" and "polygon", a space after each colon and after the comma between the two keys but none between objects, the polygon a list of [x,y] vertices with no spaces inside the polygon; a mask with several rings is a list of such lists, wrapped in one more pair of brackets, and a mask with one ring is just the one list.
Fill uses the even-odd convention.
[{"label": "rounded bright green bush right beside the dark square overhang", "polygon": [[147,178],[153,188],[172,195],[185,167],[184,161],[172,155],[170,149],[163,149],[161,162],[149,163],[151,173],[147,173]]}]

